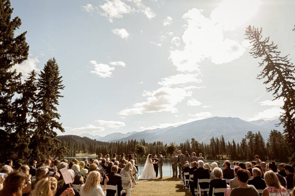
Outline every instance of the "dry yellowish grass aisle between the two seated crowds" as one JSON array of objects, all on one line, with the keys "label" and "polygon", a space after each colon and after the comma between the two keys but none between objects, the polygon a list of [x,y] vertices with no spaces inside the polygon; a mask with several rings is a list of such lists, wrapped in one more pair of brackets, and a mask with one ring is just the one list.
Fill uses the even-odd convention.
[{"label": "dry yellowish grass aisle between the two seated crowds", "polygon": [[191,196],[188,189],[184,190],[179,179],[171,177],[156,178],[154,180],[140,180],[138,185],[133,188],[132,196]]}]

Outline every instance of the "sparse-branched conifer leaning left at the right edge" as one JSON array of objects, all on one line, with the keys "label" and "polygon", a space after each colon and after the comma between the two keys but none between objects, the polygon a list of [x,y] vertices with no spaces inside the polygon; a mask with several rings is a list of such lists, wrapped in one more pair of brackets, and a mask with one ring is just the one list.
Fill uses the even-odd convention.
[{"label": "sparse-branched conifer leaning left at the right edge", "polygon": [[282,56],[269,37],[262,38],[262,28],[249,26],[245,35],[252,44],[250,54],[254,58],[262,58],[259,66],[263,66],[263,70],[258,74],[258,79],[266,79],[263,83],[270,85],[266,91],[273,93],[274,100],[284,100],[280,121],[290,148],[290,161],[295,163],[295,67],[289,55]]}]

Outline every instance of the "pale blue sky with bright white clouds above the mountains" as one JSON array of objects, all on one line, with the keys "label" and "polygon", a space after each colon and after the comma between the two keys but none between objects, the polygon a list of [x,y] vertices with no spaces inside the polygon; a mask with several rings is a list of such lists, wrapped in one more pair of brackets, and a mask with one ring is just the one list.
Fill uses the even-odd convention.
[{"label": "pale blue sky with bright white clouds above the mountains", "polygon": [[65,132],[110,133],[195,120],[278,118],[250,56],[246,27],[263,28],[295,59],[295,1],[11,0],[27,31],[24,77],[55,57],[63,77]]}]

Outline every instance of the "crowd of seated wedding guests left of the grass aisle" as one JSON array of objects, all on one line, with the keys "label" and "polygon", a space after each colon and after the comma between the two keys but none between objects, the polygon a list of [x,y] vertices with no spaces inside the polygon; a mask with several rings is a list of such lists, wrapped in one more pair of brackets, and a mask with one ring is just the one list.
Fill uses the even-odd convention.
[{"label": "crowd of seated wedding guests left of the grass aisle", "polygon": [[[138,166],[130,154],[128,160],[124,153],[116,160],[116,154],[83,161],[73,159],[36,160],[29,165],[14,164],[7,160],[0,169],[0,196],[114,196],[116,190],[107,189],[107,185],[117,186],[118,196],[123,196],[135,187],[138,180]],[[65,184],[61,169],[70,174],[72,183]],[[122,180],[130,177],[130,181]],[[70,180],[70,178],[69,178]],[[123,187],[126,188],[123,190]],[[128,188],[130,187],[130,188]]]}]

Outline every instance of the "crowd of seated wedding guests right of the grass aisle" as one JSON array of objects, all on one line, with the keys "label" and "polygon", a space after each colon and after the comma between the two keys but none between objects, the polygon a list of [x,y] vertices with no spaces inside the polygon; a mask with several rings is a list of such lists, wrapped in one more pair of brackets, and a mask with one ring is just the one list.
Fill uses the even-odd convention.
[{"label": "crowd of seated wedding guests right of the grass aisle", "polygon": [[255,161],[246,163],[234,161],[232,165],[226,160],[222,168],[218,161],[211,165],[203,160],[186,161],[181,173],[183,185],[193,196],[199,190],[204,196],[207,192],[212,196],[213,189],[219,188],[223,192],[214,192],[215,196],[295,196],[294,168],[274,161],[266,164],[257,155]]}]

